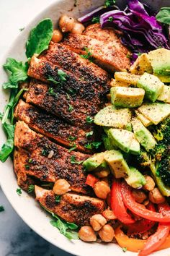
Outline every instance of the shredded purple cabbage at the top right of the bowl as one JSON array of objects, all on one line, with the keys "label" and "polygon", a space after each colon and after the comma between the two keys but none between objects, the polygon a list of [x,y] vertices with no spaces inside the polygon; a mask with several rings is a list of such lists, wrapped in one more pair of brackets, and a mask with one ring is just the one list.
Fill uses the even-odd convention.
[{"label": "shredded purple cabbage at the top right of the bowl", "polygon": [[122,43],[133,52],[142,53],[158,47],[169,48],[164,30],[156,17],[149,16],[138,0],[128,0],[128,7],[124,11],[105,12],[100,17],[100,24],[102,27],[122,30]]}]

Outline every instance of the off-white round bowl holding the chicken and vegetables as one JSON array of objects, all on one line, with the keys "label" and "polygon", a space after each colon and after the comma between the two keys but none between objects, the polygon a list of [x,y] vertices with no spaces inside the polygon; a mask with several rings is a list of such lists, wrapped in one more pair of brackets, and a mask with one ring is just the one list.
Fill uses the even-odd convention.
[{"label": "off-white round bowl holding the chicken and vegetables", "polygon": [[[37,17],[30,22],[29,25],[20,34],[17,40],[14,41],[12,47],[9,49],[4,59],[0,62],[0,82],[6,82],[7,77],[2,65],[5,63],[7,57],[13,57],[18,60],[26,60],[24,45],[27,40],[30,29],[34,27],[37,22],[50,17],[54,25],[58,21],[58,17],[63,13],[68,13],[73,17],[80,17],[81,14],[87,13],[91,7],[99,7],[103,3],[101,0],[78,0],[77,7],[74,7],[74,0],[56,1],[55,4],[50,5],[47,9],[37,15]],[[117,0],[117,2],[119,2]],[[155,4],[156,7],[169,6],[169,0],[166,1],[151,1],[151,4]],[[125,4],[125,1],[120,1],[120,4]],[[4,110],[6,99],[9,98],[9,94],[1,89],[0,93],[0,111]],[[6,141],[4,131],[0,129],[0,145]],[[117,244],[97,244],[97,243],[84,243],[81,240],[69,241],[65,236],[59,233],[58,229],[51,226],[50,216],[47,216],[45,212],[40,208],[40,205],[26,192],[22,191],[22,195],[17,195],[17,179],[13,171],[12,160],[8,159],[6,163],[0,163],[0,184],[9,202],[18,215],[23,219],[31,229],[37,234],[42,236],[48,242],[55,246],[64,249],[66,252],[70,252],[73,255],[79,256],[130,256],[136,255],[133,252],[122,252],[122,249]],[[167,256],[170,253],[170,249],[164,249],[161,252],[156,252],[154,255]]]}]

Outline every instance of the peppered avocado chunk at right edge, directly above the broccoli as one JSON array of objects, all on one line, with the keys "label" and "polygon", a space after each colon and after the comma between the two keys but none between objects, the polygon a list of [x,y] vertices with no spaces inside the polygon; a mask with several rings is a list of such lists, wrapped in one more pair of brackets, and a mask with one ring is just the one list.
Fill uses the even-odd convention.
[{"label": "peppered avocado chunk at right edge, directly above the broccoli", "polygon": [[138,111],[152,121],[153,124],[158,124],[170,115],[170,104],[161,102],[144,103],[138,108]]}]

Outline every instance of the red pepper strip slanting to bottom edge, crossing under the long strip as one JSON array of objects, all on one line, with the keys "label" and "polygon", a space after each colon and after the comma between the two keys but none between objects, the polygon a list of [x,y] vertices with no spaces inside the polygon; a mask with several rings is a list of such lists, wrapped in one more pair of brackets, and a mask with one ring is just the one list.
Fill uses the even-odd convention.
[{"label": "red pepper strip slanting to bottom edge, crossing under the long strip", "polygon": [[[158,205],[158,210],[160,213],[169,214],[170,208],[167,203]],[[170,224],[169,223],[158,223],[158,229],[155,234],[150,236],[146,244],[144,245],[143,249],[139,252],[138,256],[146,256],[149,255],[151,252],[158,249],[166,240],[166,237],[169,235],[170,231]]]}]

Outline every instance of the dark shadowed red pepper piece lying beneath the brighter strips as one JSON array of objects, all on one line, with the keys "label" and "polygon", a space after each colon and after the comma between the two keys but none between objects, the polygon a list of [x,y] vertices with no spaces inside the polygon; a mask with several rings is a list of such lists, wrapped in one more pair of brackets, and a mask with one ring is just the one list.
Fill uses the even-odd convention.
[{"label": "dark shadowed red pepper piece lying beneath the brighter strips", "polygon": [[[154,207],[153,203],[149,202],[146,206],[148,210],[152,210],[156,212],[156,208]],[[147,220],[146,218],[142,218],[139,221],[136,221],[133,224],[127,225],[128,226],[128,236],[132,234],[143,234],[149,229],[151,229],[155,225],[155,221]]]}]

